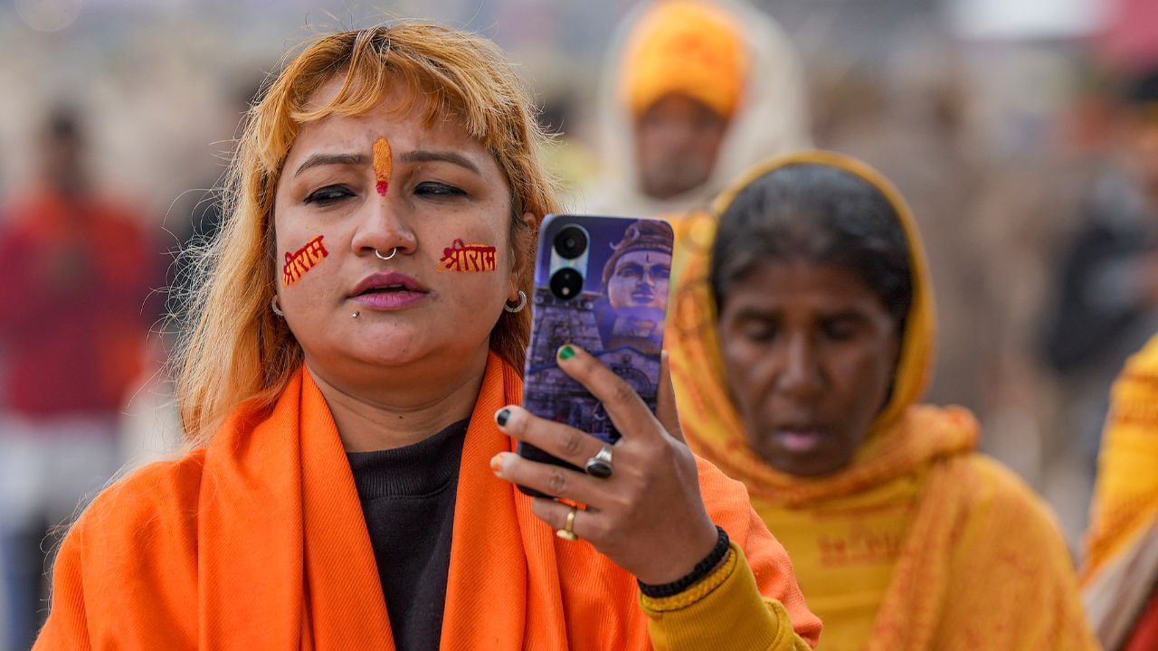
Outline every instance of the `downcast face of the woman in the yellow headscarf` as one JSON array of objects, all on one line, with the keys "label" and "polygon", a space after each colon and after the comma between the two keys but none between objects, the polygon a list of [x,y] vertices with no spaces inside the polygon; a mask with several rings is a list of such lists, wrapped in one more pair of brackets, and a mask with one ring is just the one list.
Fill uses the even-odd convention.
[{"label": "downcast face of the woman in the yellow headscarf", "polygon": [[894,317],[853,271],[760,263],[730,290],[719,335],[756,454],[799,476],[852,461],[885,405],[901,345]]}]

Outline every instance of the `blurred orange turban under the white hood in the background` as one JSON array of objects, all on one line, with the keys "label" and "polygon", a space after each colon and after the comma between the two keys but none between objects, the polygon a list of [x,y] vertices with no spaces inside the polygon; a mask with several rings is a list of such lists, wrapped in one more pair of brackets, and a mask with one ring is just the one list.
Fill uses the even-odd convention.
[{"label": "blurred orange turban under the white hood in the background", "polygon": [[748,74],[734,19],[692,0],[662,2],[643,16],[629,37],[624,63],[624,96],[636,116],[680,93],[731,117]]}]

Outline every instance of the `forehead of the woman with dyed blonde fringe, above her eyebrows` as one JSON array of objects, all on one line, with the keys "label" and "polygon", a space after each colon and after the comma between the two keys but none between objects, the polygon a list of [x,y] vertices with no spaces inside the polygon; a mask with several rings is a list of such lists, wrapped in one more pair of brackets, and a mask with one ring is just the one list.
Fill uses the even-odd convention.
[{"label": "forehead of the woman with dyed blonde fringe, above her eyebrows", "polygon": [[[342,88],[342,81],[343,76],[336,76],[318,87],[307,101],[306,109],[329,105]],[[440,112],[431,124],[424,124],[426,105],[423,101],[409,102],[406,105],[410,93],[405,83],[394,83],[383,92],[378,105],[365,115],[346,116],[335,112],[302,124],[290,148],[286,164],[318,152],[368,151],[374,140],[384,136],[395,152],[449,149],[469,158],[484,174],[498,174],[497,163],[490,153],[452,115]],[[400,107],[405,110],[400,110]]]}]

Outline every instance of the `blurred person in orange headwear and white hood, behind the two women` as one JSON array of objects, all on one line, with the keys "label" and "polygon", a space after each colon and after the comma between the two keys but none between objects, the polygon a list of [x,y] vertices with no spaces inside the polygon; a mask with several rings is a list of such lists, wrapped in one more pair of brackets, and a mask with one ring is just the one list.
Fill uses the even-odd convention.
[{"label": "blurred person in orange headwear and white hood, behind the two women", "polygon": [[586,198],[607,214],[706,207],[748,166],[809,142],[796,52],[742,0],[662,0],[631,12],[599,102],[601,173]]}]

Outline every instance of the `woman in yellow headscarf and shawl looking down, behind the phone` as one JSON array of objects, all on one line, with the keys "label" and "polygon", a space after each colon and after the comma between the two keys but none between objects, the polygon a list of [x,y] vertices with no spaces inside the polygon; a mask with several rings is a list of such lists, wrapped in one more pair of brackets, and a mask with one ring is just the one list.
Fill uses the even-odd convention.
[{"label": "woman in yellow headscarf and shawl looking down, behind the phone", "polygon": [[933,349],[911,214],[824,152],[717,202],[668,326],[692,448],[743,481],[787,548],[824,648],[1095,649],[1042,502],[917,404]]}]

